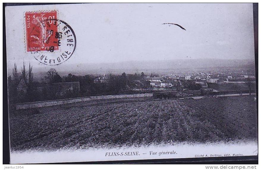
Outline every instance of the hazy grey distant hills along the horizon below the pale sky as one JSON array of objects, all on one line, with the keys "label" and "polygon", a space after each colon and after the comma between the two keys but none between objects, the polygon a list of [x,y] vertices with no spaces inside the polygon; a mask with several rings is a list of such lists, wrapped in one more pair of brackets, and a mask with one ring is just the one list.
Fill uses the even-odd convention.
[{"label": "hazy grey distant hills along the horizon below the pale sky", "polygon": [[[86,74],[145,74],[157,73],[160,75],[194,73],[194,72],[215,72],[215,71],[254,71],[254,60],[225,60],[225,59],[178,59],[178,60],[151,60],[151,61],[124,61],[115,63],[79,63],[60,64],[59,66],[39,69],[33,66],[34,77],[39,79],[50,69],[55,68],[61,76],[68,73],[75,75]],[[12,68],[9,68],[9,73]]]}]

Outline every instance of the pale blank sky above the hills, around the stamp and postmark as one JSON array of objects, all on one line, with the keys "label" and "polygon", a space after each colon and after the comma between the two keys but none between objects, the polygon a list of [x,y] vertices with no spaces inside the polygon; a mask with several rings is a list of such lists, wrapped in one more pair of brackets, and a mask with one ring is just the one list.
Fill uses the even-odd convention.
[{"label": "pale blank sky above the hills, around the stamp and postmark", "polygon": [[[253,6],[242,4],[58,4],[6,7],[7,67],[39,63],[25,48],[27,11],[57,10],[75,32],[80,63],[197,58],[253,59]],[[176,23],[175,25],[162,23]]]}]

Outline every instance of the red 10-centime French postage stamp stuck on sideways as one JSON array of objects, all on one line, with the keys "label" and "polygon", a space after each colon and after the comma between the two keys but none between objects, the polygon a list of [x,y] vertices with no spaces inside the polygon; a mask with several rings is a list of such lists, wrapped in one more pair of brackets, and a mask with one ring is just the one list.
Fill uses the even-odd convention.
[{"label": "red 10-centime French postage stamp stuck on sideways", "polygon": [[59,50],[57,12],[26,12],[26,48],[31,51]]}]

